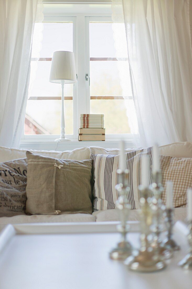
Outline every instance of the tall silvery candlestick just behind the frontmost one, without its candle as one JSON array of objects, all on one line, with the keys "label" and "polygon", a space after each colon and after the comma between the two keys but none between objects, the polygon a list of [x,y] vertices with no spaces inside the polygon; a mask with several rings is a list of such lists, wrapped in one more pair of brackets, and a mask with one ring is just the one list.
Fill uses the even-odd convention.
[{"label": "tall silvery candlestick just behind the frontmost one, without its candle", "polygon": [[152,225],[153,231],[155,232],[157,238],[154,242],[154,248],[157,249],[159,254],[161,254],[165,259],[173,257],[173,249],[167,243],[167,240],[161,239],[161,234],[165,229],[165,205],[163,205],[161,195],[164,190],[161,184],[161,171],[153,173],[153,183],[150,186],[153,192],[152,204],[153,210],[156,211],[154,223]]}]

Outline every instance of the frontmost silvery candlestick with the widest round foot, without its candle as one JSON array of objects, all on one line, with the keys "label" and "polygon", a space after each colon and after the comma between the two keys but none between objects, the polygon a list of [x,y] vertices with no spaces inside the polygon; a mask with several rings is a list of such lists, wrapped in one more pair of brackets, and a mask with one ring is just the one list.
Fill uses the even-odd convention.
[{"label": "frontmost silvery candlestick with the widest round foot, without its candle", "polygon": [[141,189],[142,197],[140,199],[140,249],[133,252],[125,260],[125,265],[130,270],[139,272],[153,272],[159,271],[166,267],[163,260],[163,256],[159,252],[159,247],[154,246],[155,240],[157,240],[157,232],[152,230],[154,216],[156,211],[152,204],[152,198],[150,197],[151,190],[148,188]]}]

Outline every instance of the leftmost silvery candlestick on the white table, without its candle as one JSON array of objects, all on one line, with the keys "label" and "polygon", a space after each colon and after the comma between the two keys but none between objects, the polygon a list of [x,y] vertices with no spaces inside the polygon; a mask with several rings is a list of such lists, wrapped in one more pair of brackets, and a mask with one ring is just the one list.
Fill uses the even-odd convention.
[{"label": "leftmost silvery candlestick on the white table, without its candle", "polygon": [[128,171],[118,170],[117,173],[120,180],[120,183],[116,185],[116,190],[119,194],[118,200],[116,201],[116,208],[120,215],[120,224],[117,225],[117,230],[121,233],[121,240],[110,252],[110,258],[113,260],[125,260],[131,255],[132,251],[132,246],[127,241],[127,233],[129,232],[127,220],[130,210],[130,204],[127,199],[127,194],[129,193],[129,187],[127,185]]}]

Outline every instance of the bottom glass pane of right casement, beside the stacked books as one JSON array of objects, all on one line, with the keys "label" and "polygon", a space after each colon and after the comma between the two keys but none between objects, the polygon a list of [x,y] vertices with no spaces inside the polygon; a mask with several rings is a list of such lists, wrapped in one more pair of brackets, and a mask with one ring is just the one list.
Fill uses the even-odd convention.
[{"label": "bottom glass pane of right casement, beside the stacked books", "polygon": [[91,113],[105,115],[106,134],[130,134],[124,100],[91,100]]}]

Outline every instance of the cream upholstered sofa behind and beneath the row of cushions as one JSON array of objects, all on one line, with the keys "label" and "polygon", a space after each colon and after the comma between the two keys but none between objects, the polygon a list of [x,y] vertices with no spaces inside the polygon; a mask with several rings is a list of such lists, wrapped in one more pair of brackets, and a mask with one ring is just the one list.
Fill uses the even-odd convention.
[{"label": "cream upholstered sofa behind and beneath the row of cushions", "polygon": [[[135,149],[126,149],[127,151]],[[6,162],[13,159],[25,158],[25,149],[14,149],[0,147],[0,162]],[[33,153],[46,155],[54,158],[69,159],[69,160],[85,160],[90,158],[90,154],[106,154],[118,155],[119,149],[104,149],[102,147],[83,147],[74,149],[73,151],[37,151]],[[161,155],[168,155],[176,158],[192,158],[192,143],[191,142],[177,142],[167,144],[160,147]],[[175,209],[175,221],[185,221],[186,208]],[[130,221],[138,220],[137,210],[131,210],[129,215]],[[69,223],[69,222],[106,222],[119,221],[118,211],[116,209],[102,210],[93,212],[92,214],[60,214],[60,215],[26,215],[21,213],[12,217],[0,217],[0,230],[7,224],[20,223]]]}]

